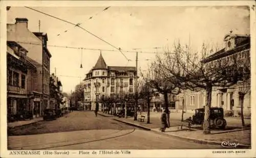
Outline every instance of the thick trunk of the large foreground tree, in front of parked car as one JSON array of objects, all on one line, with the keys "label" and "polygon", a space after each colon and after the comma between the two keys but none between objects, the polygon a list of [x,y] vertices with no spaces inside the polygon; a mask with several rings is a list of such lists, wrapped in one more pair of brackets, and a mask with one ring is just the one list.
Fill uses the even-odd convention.
[{"label": "thick trunk of the large foreground tree, in front of parked car", "polygon": [[210,134],[210,104],[211,104],[211,90],[212,86],[206,88],[206,105],[204,110],[203,134]]}]

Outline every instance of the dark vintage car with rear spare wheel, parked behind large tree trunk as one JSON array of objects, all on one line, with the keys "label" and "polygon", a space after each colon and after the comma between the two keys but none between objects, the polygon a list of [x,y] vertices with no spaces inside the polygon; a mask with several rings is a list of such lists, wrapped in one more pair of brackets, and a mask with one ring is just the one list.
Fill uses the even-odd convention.
[{"label": "dark vintage car with rear spare wheel, parked behind large tree trunk", "polygon": [[[204,108],[196,109],[195,110],[195,115],[193,115],[193,118],[189,118],[191,120],[191,124],[201,124],[203,125],[204,122]],[[189,120],[188,119],[188,120]],[[210,114],[209,114],[209,119],[210,119],[210,125],[211,128],[222,128],[224,129],[227,125],[226,120],[224,119],[224,112],[223,108],[217,108],[217,107],[212,107],[210,108]]]}]

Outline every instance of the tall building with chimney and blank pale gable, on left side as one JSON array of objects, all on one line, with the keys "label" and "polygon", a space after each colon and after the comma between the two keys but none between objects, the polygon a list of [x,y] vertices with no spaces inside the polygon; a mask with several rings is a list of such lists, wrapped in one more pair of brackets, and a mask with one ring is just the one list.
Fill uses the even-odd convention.
[{"label": "tall building with chimney and blank pale gable, on left side", "polygon": [[[29,61],[36,65],[36,72],[32,79],[36,80],[32,85],[34,111],[39,115],[46,108],[49,108],[50,93],[50,58],[51,54],[47,49],[48,37],[45,33],[33,33],[28,29],[27,18],[15,18],[14,24],[7,24],[7,40],[16,41],[29,51]],[[38,110],[37,110],[38,109]]]}]

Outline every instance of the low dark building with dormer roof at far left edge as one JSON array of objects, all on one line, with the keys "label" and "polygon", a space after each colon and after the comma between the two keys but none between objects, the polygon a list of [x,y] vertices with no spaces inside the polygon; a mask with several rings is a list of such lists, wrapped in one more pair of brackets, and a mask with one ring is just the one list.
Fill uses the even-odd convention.
[{"label": "low dark building with dormer roof at far left edge", "polygon": [[15,41],[7,41],[7,114],[8,121],[33,116],[31,74],[36,66],[27,60],[28,50]]}]

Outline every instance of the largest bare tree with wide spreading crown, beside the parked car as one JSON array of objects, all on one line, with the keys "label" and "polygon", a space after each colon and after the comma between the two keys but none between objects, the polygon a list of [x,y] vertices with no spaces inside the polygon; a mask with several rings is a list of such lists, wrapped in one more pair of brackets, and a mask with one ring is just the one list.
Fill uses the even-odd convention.
[{"label": "largest bare tree with wide spreading crown, beside the parked car", "polygon": [[[210,134],[209,111],[211,106],[212,87],[229,87],[240,81],[244,75],[239,71],[240,67],[248,65],[238,61],[236,54],[232,58],[221,58],[209,60],[212,54],[212,47],[203,44],[201,52],[191,52],[187,46],[182,47],[179,42],[173,46],[172,54],[169,50],[164,54],[164,58],[158,58],[159,69],[164,69],[164,73],[170,81],[175,80],[181,89],[192,91],[206,91],[205,116],[203,122],[203,133]],[[219,51],[225,52],[225,49]],[[168,76],[169,75],[169,76]]]}]

